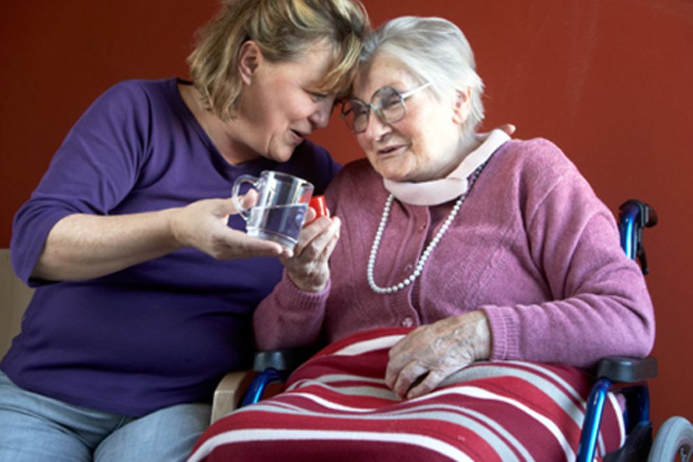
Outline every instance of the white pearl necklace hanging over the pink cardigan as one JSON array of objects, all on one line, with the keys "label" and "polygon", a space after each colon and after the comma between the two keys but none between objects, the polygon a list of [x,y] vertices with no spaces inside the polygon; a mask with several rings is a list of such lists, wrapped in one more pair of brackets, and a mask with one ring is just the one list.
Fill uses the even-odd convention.
[{"label": "white pearl necklace hanging over the pink cardigan", "polygon": [[392,201],[394,200],[394,195],[392,195],[392,193],[387,197],[387,201],[385,201],[385,209],[382,210],[382,217],[380,218],[380,225],[378,226],[378,231],[375,232],[375,239],[373,239],[373,246],[371,247],[371,255],[368,256],[368,268],[366,269],[368,285],[371,287],[371,290],[373,290],[373,292],[375,292],[376,294],[392,294],[392,292],[397,292],[398,290],[402,290],[406,286],[410,285],[412,282],[415,281],[416,278],[419,277],[419,275],[424,270],[424,264],[426,264],[426,260],[429,260],[431,253],[433,253],[433,249],[435,248],[435,246],[438,245],[440,239],[442,239],[442,235],[445,234],[447,228],[450,228],[450,225],[452,225],[452,221],[455,219],[457,212],[460,210],[460,207],[462,207],[462,204],[467,198],[467,195],[470,189],[472,188],[472,185],[475,183],[477,177],[479,177],[479,174],[482,172],[485,165],[486,163],[480,165],[479,168],[477,168],[477,170],[474,172],[474,174],[472,174],[472,179],[470,181],[467,191],[465,191],[465,193],[463,193],[463,195],[460,196],[457,202],[455,202],[454,207],[452,207],[452,211],[450,211],[450,214],[445,219],[445,222],[440,227],[440,230],[438,230],[438,232],[435,233],[435,237],[431,239],[429,245],[426,246],[426,250],[424,250],[424,253],[421,254],[421,257],[419,258],[419,261],[417,262],[417,265],[412,274],[405,278],[401,283],[391,285],[390,287],[380,287],[378,284],[375,283],[375,279],[373,278],[373,269],[375,269],[375,257],[378,255],[378,248],[380,247],[380,241],[382,240],[382,232],[385,231],[385,224],[387,223],[387,218],[389,218],[390,208],[392,207]]}]

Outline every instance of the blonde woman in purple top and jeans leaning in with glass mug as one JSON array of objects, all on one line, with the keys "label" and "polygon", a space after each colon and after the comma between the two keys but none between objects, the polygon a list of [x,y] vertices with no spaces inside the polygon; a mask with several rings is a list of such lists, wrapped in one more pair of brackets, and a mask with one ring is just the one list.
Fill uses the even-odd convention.
[{"label": "blonde woman in purple top and jeans leaning in with glass mug", "polygon": [[288,253],[246,235],[231,186],[262,170],[327,186],[340,165],[306,137],[369,30],[357,0],[225,1],[193,82],[120,82],[89,107],[15,217],[15,272],[37,288],[0,365],[0,460],[188,456],[281,278],[251,257]]}]

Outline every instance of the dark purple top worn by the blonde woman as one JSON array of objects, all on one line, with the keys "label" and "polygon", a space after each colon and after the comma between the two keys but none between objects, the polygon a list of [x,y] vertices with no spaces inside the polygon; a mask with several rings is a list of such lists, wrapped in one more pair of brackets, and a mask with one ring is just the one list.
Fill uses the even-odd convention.
[{"label": "dark purple top worn by the blonde woman", "polygon": [[[255,306],[281,278],[276,258],[220,261],[176,251],[75,283],[29,281],[47,234],[69,214],[131,214],[228,198],[240,174],[281,170],[322,191],[339,165],[304,142],[287,163],[229,165],[181,99],[177,79],[117,84],[68,133],[15,216],[12,262],[38,285],[0,364],[24,389],[140,416],[211,397],[254,350]],[[230,226],[244,229],[239,216]]]}]

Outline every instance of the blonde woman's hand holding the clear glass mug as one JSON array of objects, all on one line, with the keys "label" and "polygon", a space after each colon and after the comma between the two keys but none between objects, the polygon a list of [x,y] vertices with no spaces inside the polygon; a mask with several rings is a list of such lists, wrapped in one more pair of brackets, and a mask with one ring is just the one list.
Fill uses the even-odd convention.
[{"label": "blonde woman's hand holding the clear glass mug", "polygon": [[[239,198],[244,207],[255,197]],[[171,232],[180,246],[193,247],[214,258],[278,257],[290,251],[276,242],[250,237],[228,226],[228,218],[238,211],[231,199],[198,200],[181,209],[174,209]]]}]

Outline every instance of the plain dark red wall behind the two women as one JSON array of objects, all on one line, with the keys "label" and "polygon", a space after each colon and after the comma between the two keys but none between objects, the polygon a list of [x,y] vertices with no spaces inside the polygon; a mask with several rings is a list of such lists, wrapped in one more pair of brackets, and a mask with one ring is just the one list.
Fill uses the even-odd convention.
[{"label": "plain dark red wall behind the two women", "polygon": [[[657,309],[655,424],[693,420],[693,3],[688,0],[365,0],[373,22],[440,15],[467,34],[486,82],[487,127],[548,137],[616,211],[653,204],[646,232]],[[0,246],[52,153],[114,82],[186,76],[191,35],[216,0],[5,1],[0,6]],[[505,8],[505,9],[501,9]],[[316,136],[336,158],[360,156],[336,117]]]}]

